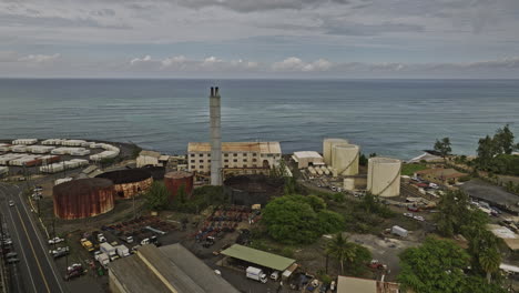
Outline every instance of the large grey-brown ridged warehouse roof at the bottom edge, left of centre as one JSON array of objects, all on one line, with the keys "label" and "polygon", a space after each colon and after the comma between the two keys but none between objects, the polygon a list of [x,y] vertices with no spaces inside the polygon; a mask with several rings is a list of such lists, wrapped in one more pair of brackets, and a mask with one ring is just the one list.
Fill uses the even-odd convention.
[{"label": "large grey-brown ridged warehouse roof at the bottom edge, left of centre", "polygon": [[238,293],[181,244],[143,245],[109,269],[125,292]]}]

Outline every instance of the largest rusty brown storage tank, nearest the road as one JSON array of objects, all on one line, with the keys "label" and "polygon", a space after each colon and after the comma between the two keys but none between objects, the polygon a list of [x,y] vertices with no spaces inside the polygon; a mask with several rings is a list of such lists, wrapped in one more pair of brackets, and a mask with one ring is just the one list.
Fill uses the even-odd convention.
[{"label": "largest rusty brown storage tank, nearest the road", "polygon": [[79,179],[55,185],[52,190],[54,214],[73,220],[103,214],[113,210],[112,181],[101,178]]}]

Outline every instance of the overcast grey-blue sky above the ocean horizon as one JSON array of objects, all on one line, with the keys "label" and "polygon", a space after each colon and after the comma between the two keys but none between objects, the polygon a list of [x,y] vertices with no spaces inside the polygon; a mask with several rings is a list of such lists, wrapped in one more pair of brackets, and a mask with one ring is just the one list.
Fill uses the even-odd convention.
[{"label": "overcast grey-blue sky above the ocean horizon", "polygon": [[519,0],[0,0],[0,77],[519,78]]}]

